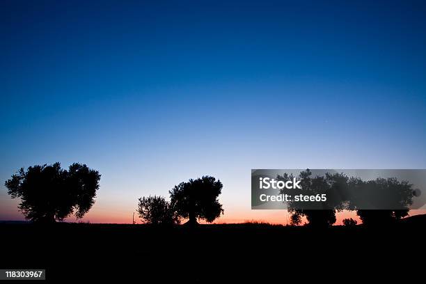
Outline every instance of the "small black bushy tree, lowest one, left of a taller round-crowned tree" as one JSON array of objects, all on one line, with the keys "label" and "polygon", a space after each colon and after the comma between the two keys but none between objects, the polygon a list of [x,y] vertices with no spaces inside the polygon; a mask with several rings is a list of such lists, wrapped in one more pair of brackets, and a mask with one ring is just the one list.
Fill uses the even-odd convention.
[{"label": "small black bushy tree, lowest one, left of a taller round-crowned tree", "polygon": [[180,223],[178,214],[168,201],[162,196],[148,196],[139,198],[139,217],[153,225],[173,225]]}]

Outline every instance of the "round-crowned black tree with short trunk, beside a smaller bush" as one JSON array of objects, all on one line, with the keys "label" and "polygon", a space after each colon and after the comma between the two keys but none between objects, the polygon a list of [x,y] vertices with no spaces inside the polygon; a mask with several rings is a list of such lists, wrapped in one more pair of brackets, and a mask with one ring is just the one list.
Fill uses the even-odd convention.
[{"label": "round-crowned black tree with short trunk, beside a smaller bush", "polygon": [[223,214],[218,197],[222,183],[210,176],[181,182],[169,191],[171,204],[184,219],[189,219],[190,226],[196,226],[197,219],[212,222]]}]

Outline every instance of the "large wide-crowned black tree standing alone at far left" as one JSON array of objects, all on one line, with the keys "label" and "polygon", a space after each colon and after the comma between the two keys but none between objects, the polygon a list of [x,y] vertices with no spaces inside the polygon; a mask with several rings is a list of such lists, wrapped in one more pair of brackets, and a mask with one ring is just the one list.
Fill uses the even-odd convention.
[{"label": "large wide-crowned black tree standing alone at far left", "polygon": [[75,212],[82,218],[95,203],[100,173],[85,164],[72,164],[68,171],[55,163],[21,168],[5,182],[12,198],[21,198],[19,210],[35,222],[63,221]]}]

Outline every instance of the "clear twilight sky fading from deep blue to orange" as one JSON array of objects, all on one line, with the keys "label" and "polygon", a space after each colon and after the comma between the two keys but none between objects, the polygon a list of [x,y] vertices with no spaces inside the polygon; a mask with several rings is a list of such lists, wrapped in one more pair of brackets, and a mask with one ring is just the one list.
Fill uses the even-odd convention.
[{"label": "clear twilight sky fading from deep blue to orange", "polygon": [[426,168],[425,50],[424,1],[0,1],[0,220],[56,161],[102,174],[92,223],[202,175],[218,222],[286,223],[252,168]]}]

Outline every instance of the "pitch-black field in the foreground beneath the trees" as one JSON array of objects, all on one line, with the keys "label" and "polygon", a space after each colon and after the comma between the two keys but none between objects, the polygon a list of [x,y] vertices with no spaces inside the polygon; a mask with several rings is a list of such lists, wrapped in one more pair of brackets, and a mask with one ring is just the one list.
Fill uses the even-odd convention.
[{"label": "pitch-black field in the foreground beneath the trees", "polygon": [[262,224],[161,229],[2,223],[0,267],[47,269],[51,283],[85,283],[86,279],[281,283],[312,278],[387,282],[388,277],[397,276],[404,277],[404,282],[422,281],[425,224],[424,216],[388,228],[328,230]]}]

